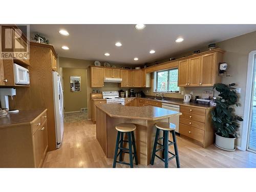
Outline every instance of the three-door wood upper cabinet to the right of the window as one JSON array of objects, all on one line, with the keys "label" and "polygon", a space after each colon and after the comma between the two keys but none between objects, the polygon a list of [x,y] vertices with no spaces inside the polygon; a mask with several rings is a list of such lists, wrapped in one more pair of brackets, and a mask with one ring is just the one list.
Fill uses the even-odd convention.
[{"label": "three-door wood upper cabinet to the right of the window", "polygon": [[220,82],[219,63],[223,52],[211,52],[179,61],[179,87],[212,87]]}]

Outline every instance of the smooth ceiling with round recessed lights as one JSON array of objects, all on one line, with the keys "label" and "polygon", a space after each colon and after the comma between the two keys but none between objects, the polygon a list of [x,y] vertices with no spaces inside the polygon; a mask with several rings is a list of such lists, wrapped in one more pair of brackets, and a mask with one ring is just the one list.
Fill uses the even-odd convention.
[{"label": "smooth ceiling with round recessed lights", "polygon": [[[70,35],[60,35],[60,29]],[[30,30],[31,36],[46,36],[60,57],[138,65],[256,31],[256,25],[146,25],[142,30],[135,25],[30,25]],[[175,42],[178,37],[184,41]],[[115,46],[117,41],[122,47]],[[69,50],[61,49],[64,45]],[[156,53],[150,54],[152,49]]]}]

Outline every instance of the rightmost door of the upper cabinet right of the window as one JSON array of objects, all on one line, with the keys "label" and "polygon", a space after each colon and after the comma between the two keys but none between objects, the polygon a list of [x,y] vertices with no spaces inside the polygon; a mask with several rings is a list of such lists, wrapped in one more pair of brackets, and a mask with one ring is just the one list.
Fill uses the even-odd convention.
[{"label": "rightmost door of the upper cabinet right of the window", "polygon": [[200,86],[214,86],[216,65],[216,53],[209,53],[201,56]]}]

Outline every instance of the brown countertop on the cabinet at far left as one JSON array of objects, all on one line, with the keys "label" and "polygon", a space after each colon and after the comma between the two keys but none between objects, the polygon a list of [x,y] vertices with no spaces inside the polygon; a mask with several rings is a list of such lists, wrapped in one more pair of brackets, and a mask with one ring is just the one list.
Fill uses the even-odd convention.
[{"label": "brown countertop on the cabinet at far left", "polygon": [[38,116],[45,113],[47,109],[41,110],[26,110],[19,111],[18,113],[9,113],[5,117],[0,117],[0,129],[2,127],[21,125],[21,124],[32,124]]}]

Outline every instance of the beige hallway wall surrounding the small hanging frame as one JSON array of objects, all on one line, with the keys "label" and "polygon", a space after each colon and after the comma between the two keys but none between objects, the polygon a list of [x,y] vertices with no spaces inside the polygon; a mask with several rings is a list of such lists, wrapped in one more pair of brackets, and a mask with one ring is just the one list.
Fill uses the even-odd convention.
[{"label": "beige hallway wall surrounding the small hanging frame", "polygon": [[[87,70],[62,68],[65,112],[80,111],[87,108]],[[70,91],[70,76],[81,76],[81,91]]]}]

